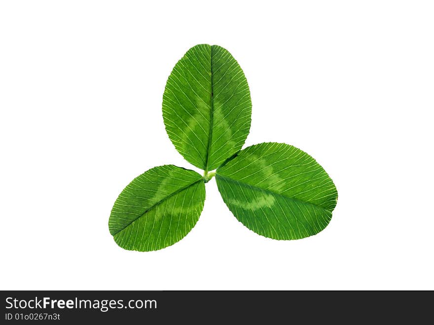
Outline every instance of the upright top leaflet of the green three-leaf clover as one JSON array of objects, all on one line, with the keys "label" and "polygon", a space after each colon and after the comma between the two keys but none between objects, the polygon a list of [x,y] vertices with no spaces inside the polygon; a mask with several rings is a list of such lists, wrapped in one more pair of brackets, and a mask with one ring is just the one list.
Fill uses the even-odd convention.
[{"label": "upright top leaflet of the green three-leaf clover", "polygon": [[167,134],[181,155],[206,171],[241,149],[250,130],[249,85],[224,48],[200,44],[173,68],[163,95]]}]

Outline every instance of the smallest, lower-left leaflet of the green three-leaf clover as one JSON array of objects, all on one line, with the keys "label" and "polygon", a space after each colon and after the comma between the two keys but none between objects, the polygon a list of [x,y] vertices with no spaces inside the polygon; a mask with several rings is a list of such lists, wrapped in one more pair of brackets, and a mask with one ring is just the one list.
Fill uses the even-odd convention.
[{"label": "smallest, lower-left leaflet of the green three-leaf clover", "polygon": [[154,167],[119,194],[109,218],[110,234],[126,250],[165,248],[193,228],[204,201],[201,175],[174,165]]}]

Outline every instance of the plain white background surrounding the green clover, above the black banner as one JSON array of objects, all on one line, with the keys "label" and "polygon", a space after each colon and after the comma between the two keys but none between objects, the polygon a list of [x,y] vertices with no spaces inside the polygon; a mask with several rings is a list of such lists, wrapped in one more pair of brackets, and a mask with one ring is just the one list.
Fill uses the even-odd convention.
[{"label": "plain white background surrounding the green clover, above the black banner", "polygon": [[[1,1],[0,289],[434,289],[432,1]],[[293,144],[335,182],[327,228],[256,235],[215,180],[181,242],[129,252],[119,192],[169,141],[164,86],[198,43],[253,101],[246,146]]]}]

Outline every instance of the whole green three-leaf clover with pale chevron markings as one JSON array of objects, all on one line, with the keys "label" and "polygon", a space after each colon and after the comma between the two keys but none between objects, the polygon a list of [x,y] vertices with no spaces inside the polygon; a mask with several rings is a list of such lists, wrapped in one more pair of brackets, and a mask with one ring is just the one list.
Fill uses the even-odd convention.
[{"label": "whole green three-leaf clover with pale chevron markings", "polygon": [[164,165],[131,181],[109,218],[120,247],[147,252],[180,241],[198,221],[205,183],[214,176],[229,210],[262,236],[300,239],[327,226],[337,190],[314,158],[280,143],[240,150],[252,102],[244,72],[227,50],[190,48],[167,80],[162,106],[170,140],[204,174]]}]

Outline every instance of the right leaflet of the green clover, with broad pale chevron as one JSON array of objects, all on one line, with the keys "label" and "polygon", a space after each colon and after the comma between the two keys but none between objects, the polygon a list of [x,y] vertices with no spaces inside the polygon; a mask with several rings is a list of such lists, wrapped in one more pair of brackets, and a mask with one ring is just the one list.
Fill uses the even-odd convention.
[{"label": "right leaflet of the green clover, with broad pale chevron", "polygon": [[336,206],[333,181],[304,151],[279,143],[242,150],[217,169],[218,190],[234,216],[274,239],[300,239],[323,230]]}]

